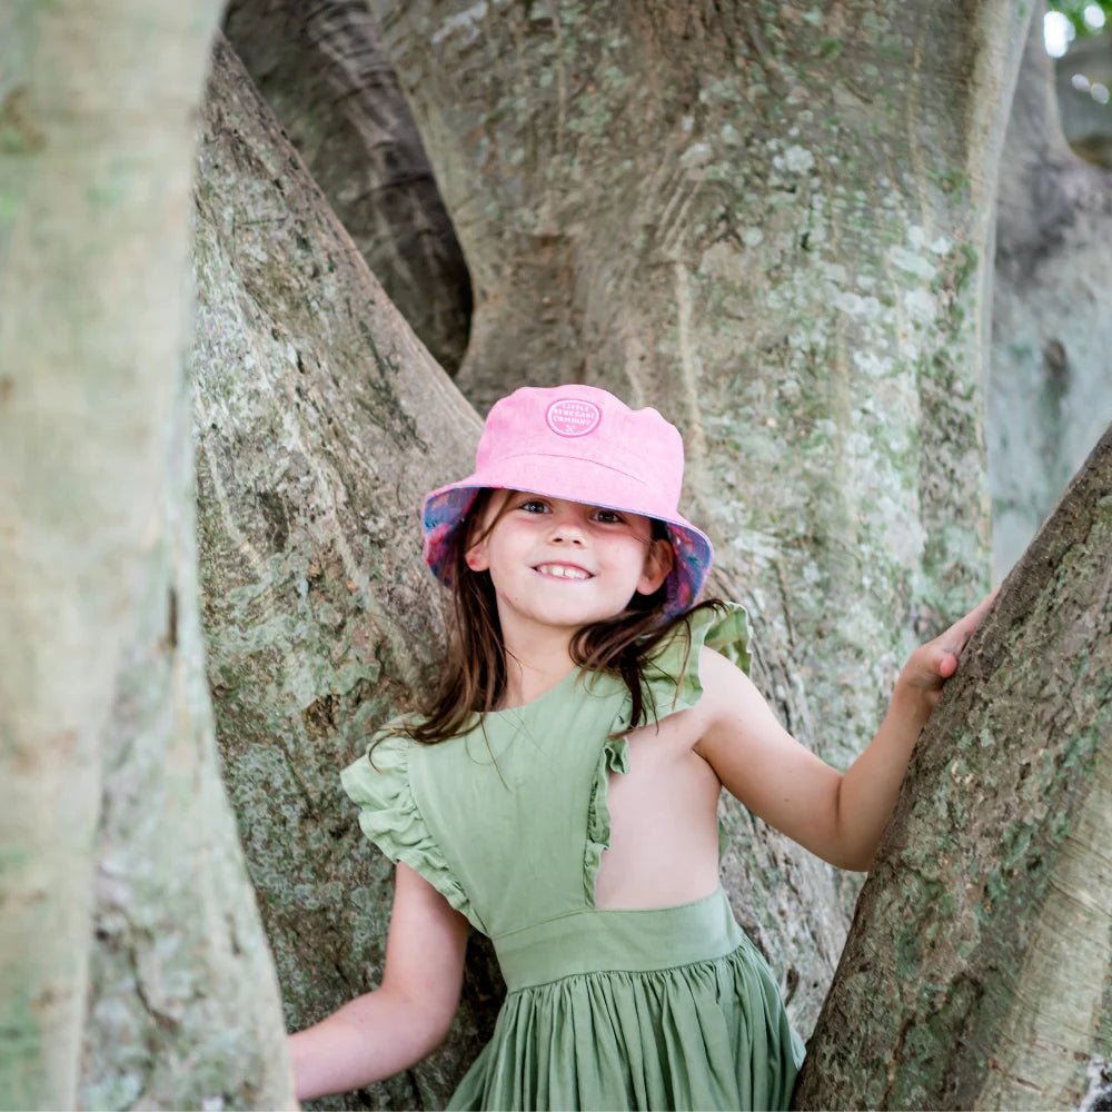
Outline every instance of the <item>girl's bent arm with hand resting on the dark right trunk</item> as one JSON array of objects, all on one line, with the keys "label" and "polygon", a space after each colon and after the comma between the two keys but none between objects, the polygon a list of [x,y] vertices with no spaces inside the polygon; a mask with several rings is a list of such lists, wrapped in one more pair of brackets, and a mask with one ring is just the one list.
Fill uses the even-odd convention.
[{"label": "girl's bent arm with hand resting on the dark right trunk", "polygon": [[796,742],[748,677],[711,649],[699,659],[706,717],[696,752],[765,822],[834,865],[867,870],[915,739],[993,597],[912,653],[881,728],[844,774]]}]

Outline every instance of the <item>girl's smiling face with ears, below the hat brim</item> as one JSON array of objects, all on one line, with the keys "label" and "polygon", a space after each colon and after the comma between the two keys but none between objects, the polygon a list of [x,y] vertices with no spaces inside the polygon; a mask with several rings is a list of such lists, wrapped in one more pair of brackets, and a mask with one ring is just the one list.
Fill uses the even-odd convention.
[{"label": "girl's smiling face with ears, below the hat brim", "polygon": [[673,552],[639,514],[498,490],[465,558],[473,572],[490,573],[510,641],[527,626],[574,634],[614,617],[635,594],[661,587]]}]

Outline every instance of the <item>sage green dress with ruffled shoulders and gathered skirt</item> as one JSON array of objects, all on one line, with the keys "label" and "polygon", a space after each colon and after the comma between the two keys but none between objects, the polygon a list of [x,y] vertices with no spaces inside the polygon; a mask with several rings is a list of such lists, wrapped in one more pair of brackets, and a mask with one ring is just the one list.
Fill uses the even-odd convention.
[{"label": "sage green dress with ruffled shoulders and gathered skirt", "polygon": [[[747,664],[745,613],[706,610],[657,653],[665,717],[703,644]],[[688,666],[691,665],[691,666]],[[625,685],[573,672],[438,745],[388,736],[344,771],[367,837],[493,940],[507,995],[453,1109],[785,1109],[803,1050],[725,893],[594,905],[608,776],[628,771]]]}]

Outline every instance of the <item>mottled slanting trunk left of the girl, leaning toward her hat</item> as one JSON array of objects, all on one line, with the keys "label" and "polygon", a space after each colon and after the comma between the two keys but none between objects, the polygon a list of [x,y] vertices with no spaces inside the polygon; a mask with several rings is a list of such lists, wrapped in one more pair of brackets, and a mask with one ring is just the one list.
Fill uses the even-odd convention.
[{"label": "mottled slanting trunk left of the girl, leaning toward her hat", "polygon": [[[216,52],[197,189],[199,537],[208,672],[287,1022],[381,972],[391,868],[339,770],[428,682],[439,588],[417,507],[478,420],[251,87]],[[443,1106],[499,986],[473,959],[454,1036],[344,1106]]]}]

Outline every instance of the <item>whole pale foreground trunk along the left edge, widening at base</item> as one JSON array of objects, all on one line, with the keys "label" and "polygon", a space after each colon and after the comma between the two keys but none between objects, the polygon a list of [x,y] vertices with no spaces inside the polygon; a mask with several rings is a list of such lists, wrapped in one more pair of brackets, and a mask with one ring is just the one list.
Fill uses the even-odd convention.
[{"label": "whole pale foreground trunk along the left edge, widening at base", "polygon": [[[198,682],[188,540],[187,214],[218,10],[0,9],[10,1108],[290,1101],[274,977]],[[205,1002],[217,993],[220,1003]],[[149,1041],[113,1045],[132,1036]]]}]

